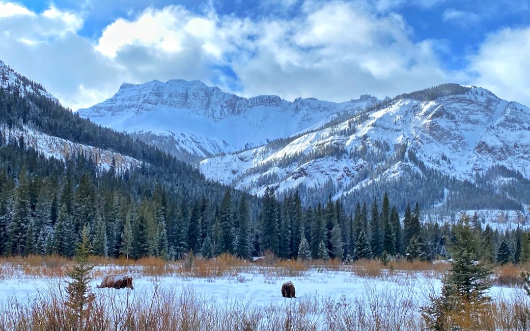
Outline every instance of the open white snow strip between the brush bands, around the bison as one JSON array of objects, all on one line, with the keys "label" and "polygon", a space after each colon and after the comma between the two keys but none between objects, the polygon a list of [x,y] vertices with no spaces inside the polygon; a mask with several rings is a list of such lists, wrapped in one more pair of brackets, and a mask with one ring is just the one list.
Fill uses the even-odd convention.
[{"label": "open white snow strip between the brush bands, around the bison", "polygon": [[[356,300],[359,298],[389,296],[400,301],[412,301],[416,305],[425,305],[428,295],[438,292],[441,286],[439,275],[429,273],[400,273],[379,277],[359,277],[350,271],[318,270],[309,271],[303,277],[269,277],[267,273],[250,270],[235,277],[225,278],[187,278],[187,277],[147,277],[134,279],[134,290],[97,289],[101,278],[94,279],[91,288],[98,293],[115,294],[125,298],[127,291],[134,298],[150,298],[155,288],[169,291],[192,290],[194,293],[211,298],[220,305],[231,305],[233,302],[268,306],[281,304],[286,299],[281,297],[280,287],[286,281],[293,281],[298,299],[331,299]],[[56,289],[58,284],[66,284],[59,278],[24,278],[0,279],[0,305],[5,305],[11,298],[21,302],[28,301],[40,292],[46,293]],[[493,298],[510,298],[520,288],[498,287],[491,289]]]}]

